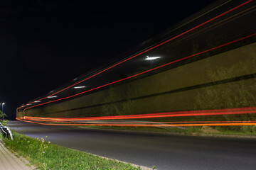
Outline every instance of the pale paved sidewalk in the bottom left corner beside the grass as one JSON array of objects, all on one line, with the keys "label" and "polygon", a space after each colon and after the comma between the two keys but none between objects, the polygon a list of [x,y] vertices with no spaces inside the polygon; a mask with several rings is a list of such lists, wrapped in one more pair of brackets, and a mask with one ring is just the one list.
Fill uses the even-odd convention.
[{"label": "pale paved sidewalk in the bottom left corner beside the grass", "polygon": [[11,153],[4,143],[0,140],[0,169],[4,170],[31,170],[33,167],[26,166],[29,162],[26,159],[21,159]]}]

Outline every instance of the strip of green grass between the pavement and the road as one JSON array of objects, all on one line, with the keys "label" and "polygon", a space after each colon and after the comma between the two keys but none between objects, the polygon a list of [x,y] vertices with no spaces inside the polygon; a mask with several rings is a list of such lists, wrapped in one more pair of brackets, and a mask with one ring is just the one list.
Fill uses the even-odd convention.
[{"label": "strip of green grass between the pavement and the road", "polygon": [[4,139],[6,147],[28,159],[38,169],[139,169],[113,159],[52,145],[43,138],[33,139],[13,132],[14,140]]}]

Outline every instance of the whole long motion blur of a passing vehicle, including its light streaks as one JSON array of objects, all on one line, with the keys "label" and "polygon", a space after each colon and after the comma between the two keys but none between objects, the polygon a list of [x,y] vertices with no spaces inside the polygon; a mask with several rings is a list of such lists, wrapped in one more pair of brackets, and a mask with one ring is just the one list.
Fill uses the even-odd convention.
[{"label": "whole long motion blur of a passing vehicle, including its light streaks", "polygon": [[217,1],[17,108],[50,125],[256,125],[256,3]]}]

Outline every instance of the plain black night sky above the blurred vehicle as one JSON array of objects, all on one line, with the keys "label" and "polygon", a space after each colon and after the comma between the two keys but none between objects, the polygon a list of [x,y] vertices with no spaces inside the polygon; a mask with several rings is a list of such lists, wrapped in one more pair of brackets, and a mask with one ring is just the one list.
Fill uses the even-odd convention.
[{"label": "plain black night sky above the blurred vehicle", "polygon": [[213,1],[0,1],[0,102],[9,118]]}]

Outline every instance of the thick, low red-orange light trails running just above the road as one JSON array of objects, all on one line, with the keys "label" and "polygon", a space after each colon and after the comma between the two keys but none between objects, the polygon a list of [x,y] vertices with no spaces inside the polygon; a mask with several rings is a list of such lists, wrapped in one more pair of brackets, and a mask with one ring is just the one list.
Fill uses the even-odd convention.
[{"label": "thick, low red-orange light trails running just above the road", "polygon": [[[256,113],[256,107],[247,108],[225,108],[215,110],[204,111],[176,111],[167,113],[148,113],[140,115],[114,115],[114,116],[101,116],[101,117],[88,117],[88,118],[41,118],[41,117],[29,117],[16,118],[17,120],[23,120],[30,123],[39,123],[42,125],[103,125],[103,126],[201,126],[201,125],[255,125],[256,120],[247,121],[176,121],[176,122],[72,122],[82,120],[127,120],[138,118],[171,118],[171,117],[183,117],[183,116],[195,116],[195,115],[235,115],[235,114],[248,114]],[[40,123],[48,122],[48,123]],[[53,123],[54,122],[54,123]],[[169,123],[169,124],[157,124],[157,123]]]}]

